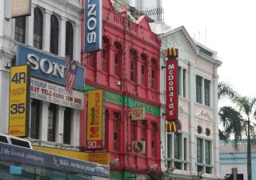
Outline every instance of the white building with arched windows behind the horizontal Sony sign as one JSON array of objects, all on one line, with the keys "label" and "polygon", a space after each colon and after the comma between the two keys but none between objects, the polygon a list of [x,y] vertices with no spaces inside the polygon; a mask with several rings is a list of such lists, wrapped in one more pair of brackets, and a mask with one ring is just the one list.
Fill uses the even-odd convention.
[{"label": "white building with arched windows behind the horizontal Sony sign", "polygon": [[[20,18],[12,18],[12,2],[0,0],[0,132],[3,134],[8,134],[9,125],[10,67],[7,65],[17,66],[17,58],[26,58],[17,54],[18,46],[22,45],[27,55],[38,58],[38,61],[41,61],[41,56],[47,56],[44,62],[49,66],[56,66],[56,62],[51,64],[53,59],[65,63],[65,58],[72,58],[80,62],[81,53],[81,0],[31,0],[30,16]],[[46,74],[46,70],[43,73]],[[46,86],[62,87],[50,79],[32,78],[34,81],[43,80]],[[61,96],[66,97],[66,94]],[[78,150],[79,108],[53,102],[53,97],[49,99],[47,94],[43,97],[48,100],[30,97],[31,142],[54,147],[64,143],[68,149]]]}]

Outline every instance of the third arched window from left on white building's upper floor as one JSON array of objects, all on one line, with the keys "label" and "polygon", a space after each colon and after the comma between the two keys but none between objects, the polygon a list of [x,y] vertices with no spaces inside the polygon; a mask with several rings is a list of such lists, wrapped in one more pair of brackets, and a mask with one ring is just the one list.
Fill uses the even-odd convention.
[{"label": "third arched window from left on white building's upper floor", "polygon": [[58,55],[58,19],[50,16],[50,52]]}]

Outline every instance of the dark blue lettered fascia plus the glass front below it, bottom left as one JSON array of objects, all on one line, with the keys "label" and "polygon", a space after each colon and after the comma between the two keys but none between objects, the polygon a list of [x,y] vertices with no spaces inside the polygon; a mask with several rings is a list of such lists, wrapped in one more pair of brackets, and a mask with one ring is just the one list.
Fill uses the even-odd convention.
[{"label": "dark blue lettered fascia plus the glass front below it, bottom left", "polygon": [[0,142],[0,179],[106,180],[109,166]]}]

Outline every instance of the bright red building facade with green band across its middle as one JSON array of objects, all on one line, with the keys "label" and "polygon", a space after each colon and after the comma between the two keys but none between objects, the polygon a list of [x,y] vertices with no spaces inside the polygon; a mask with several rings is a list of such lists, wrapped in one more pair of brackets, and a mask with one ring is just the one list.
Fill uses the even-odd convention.
[{"label": "bright red building facade with green band across its middle", "polygon": [[[83,2],[84,3],[84,2]],[[83,4],[84,6],[84,4]],[[131,179],[160,172],[160,46],[146,16],[132,20],[127,10],[114,9],[102,1],[102,50],[82,54],[85,90],[105,90],[105,147],[90,152],[109,153],[118,163],[110,167],[111,178]],[[84,17],[84,16],[82,16]],[[84,20],[82,19],[82,23]],[[82,28],[85,25],[82,24]],[[82,29],[82,52],[85,33]],[[87,95],[86,101],[87,102]],[[87,105],[88,106],[88,105]],[[145,119],[132,121],[131,108],[145,107]],[[81,114],[80,146],[86,143],[86,112]],[[145,154],[132,153],[132,141],[145,141]],[[151,166],[152,167],[152,166]]]}]

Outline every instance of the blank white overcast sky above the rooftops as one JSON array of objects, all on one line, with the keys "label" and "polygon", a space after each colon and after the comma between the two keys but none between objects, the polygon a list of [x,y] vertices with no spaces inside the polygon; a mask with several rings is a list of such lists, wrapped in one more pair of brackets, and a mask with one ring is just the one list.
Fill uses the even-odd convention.
[{"label": "blank white overcast sky above the rooftops", "polygon": [[162,0],[164,21],[218,52],[219,81],[256,98],[256,10],[253,0]]}]

